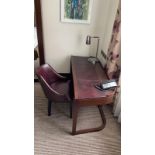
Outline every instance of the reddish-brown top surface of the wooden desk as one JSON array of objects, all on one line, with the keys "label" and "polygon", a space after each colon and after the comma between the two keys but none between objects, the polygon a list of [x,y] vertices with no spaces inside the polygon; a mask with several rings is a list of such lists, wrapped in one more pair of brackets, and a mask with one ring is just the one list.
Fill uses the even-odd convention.
[{"label": "reddish-brown top surface of the wooden desk", "polygon": [[71,57],[74,99],[94,99],[113,95],[112,90],[100,91],[95,88],[94,85],[100,84],[108,78],[99,62],[94,65],[87,59],[88,57]]}]

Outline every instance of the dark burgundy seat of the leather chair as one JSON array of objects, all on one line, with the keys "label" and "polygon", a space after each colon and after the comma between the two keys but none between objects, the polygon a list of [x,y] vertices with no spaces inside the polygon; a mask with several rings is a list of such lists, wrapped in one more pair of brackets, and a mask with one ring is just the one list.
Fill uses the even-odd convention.
[{"label": "dark burgundy seat of the leather chair", "polygon": [[68,98],[68,101],[71,101],[70,84],[71,84],[71,81],[70,80],[68,80],[68,81],[55,81],[50,86],[56,92],[58,92],[60,94],[66,95],[66,97]]}]

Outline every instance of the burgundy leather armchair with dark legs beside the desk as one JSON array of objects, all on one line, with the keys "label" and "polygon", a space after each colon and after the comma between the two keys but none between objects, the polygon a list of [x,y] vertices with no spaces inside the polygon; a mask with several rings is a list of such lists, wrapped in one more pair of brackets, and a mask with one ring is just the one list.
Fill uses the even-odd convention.
[{"label": "burgundy leather armchair with dark legs beside the desk", "polygon": [[49,64],[36,69],[36,75],[48,98],[48,116],[51,115],[52,102],[69,102],[70,118],[72,117],[71,80],[58,74]]}]

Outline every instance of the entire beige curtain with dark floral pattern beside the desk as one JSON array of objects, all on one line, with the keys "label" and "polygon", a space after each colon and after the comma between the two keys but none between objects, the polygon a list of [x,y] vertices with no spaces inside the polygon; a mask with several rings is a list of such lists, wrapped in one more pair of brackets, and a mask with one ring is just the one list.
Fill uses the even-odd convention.
[{"label": "entire beige curtain with dark floral pattern beside the desk", "polygon": [[121,122],[121,4],[119,3],[113,25],[111,42],[107,53],[105,70],[109,79],[116,79],[119,87],[116,90],[113,106],[114,116]]}]

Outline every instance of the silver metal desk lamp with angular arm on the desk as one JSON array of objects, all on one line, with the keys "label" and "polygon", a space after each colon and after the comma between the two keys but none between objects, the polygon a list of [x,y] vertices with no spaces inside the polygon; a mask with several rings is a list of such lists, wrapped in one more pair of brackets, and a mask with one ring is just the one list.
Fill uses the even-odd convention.
[{"label": "silver metal desk lamp with angular arm on the desk", "polygon": [[98,55],[98,49],[99,49],[99,41],[100,41],[100,38],[98,36],[87,36],[86,38],[86,44],[87,45],[90,45],[91,44],[91,39],[92,38],[95,38],[97,39],[97,49],[96,49],[96,57],[90,57],[88,58],[88,61],[91,62],[92,64],[95,64],[96,62],[99,62],[98,58],[97,58],[97,55]]}]

